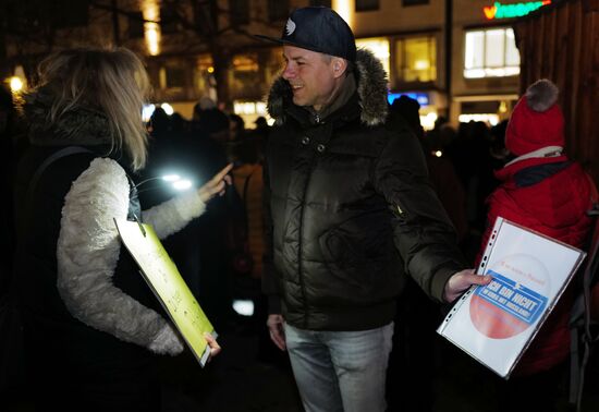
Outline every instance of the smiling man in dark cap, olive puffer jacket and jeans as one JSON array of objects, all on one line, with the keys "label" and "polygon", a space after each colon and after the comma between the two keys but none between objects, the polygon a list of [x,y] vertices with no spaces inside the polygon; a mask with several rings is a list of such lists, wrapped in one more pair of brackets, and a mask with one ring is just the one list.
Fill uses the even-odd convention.
[{"label": "smiling man in dark cap, olive puffer jacket and jeans", "polygon": [[282,44],[285,59],[268,101],[270,335],[289,351],[306,411],[383,411],[405,274],[437,301],[488,279],[460,271],[419,144],[386,125],[386,73],[347,24],[304,8],[281,38],[260,37]]}]

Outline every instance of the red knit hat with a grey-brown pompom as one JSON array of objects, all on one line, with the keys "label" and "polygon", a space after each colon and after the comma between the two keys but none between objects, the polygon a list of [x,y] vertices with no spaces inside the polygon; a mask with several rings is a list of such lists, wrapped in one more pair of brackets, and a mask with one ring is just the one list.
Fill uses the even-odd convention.
[{"label": "red knit hat with a grey-brown pompom", "polygon": [[542,78],[531,84],[518,100],[505,131],[505,147],[522,156],[546,146],[564,146],[564,116],[559,89]]}]

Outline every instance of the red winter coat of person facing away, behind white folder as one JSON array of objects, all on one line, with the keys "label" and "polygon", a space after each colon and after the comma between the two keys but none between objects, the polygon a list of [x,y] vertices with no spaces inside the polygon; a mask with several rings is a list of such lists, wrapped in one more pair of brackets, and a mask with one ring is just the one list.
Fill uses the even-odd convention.
[{"label": "red winter coat of person facing away, behind white folder", "polygon": [[[487,199],[489,225],[482,245],[501,216],[572,246],[584,246],[591,227],[586,215],[591,207],[591,194],[579,165],[565,156],[531,158],[504,167],[496,177],[502,184]],[[545,371],[567,358],[572,303],[572,290],[566,290],[521,360],[516,374]]]}]

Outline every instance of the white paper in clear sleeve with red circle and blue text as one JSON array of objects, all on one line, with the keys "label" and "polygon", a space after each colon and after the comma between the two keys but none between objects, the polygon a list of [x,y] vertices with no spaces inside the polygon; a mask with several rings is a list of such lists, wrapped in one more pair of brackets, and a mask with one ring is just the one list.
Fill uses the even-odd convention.
[{"label": "white paper in clear sleeve with red circle and blue text", "polygon": [[508,378],[584,257],[575,247],[498,218],[477,269],[493,280],[462,295],[437,331]]}]

